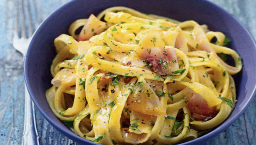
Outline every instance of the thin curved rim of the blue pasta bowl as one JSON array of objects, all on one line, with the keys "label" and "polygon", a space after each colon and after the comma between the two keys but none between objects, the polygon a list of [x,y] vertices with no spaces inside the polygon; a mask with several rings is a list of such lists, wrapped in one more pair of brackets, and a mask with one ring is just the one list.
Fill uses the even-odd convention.
[{"label": "thin curved rim of the blue pasta bowl", "polygon": [[[62,5],[60,8],[58,8],[57,10],[55,10],[52,14],[50,14],[41,24],[40,26],[36,29],[36,31],[34,32],[33,36],[32,36],[32,39],[31,39],[31,42],[29,44],[29,47],[28,47],[28,50],[27,50],[27,53],[29,54],[29,52],[31,51],[31,45],[33,44],[34,42],[34,36],[37,35],[38,31],[40,31],[42,29],[41,26],[44,26],[46,22],[50,21],[50,19],[56,14],[58,13],[58,11],[60,10],[63,10],[65,9],[68,5],[70,5],[71,3],[76,3],[77,0],[73,0],[73,1],[70,1],[64,5]],[[203,0],[205,1],[208,5],[212,5],[213,7],[215,7],[216,9],[218,10],[221,10],[222,12],[226,13],[230,18],[232,18],[233,20],[235,20],[242,28],[243,30],[245,31],[245,33],[250,36],[250,41],[253,43],[253,45],[255,46],[254,49],[256,49],[256,42],[252,36],[252,34],[247,30],[247,28],[234,16],[232,15],[231,13],[229,13],[227,10],[223,9],[222,7],[218,6],[217,4],[213,3],[213,2],[210,2],[208,0]],[[26,83],[26,86],[27,86],[27,90],[28,90],[28,93],[31,97],[31,99],[33,100],[35,106],[38,108],[38,110],[42,113],[42,115],[44,116],[44,118],[53,126],[55,127],[59,132],[61,132],[63,135],[67,136],[68,138],[72,138],[72,140],[74,140],[75,142],[83,142],[83,143],[89,143],[89,144],[93,144],[93,145],[98,145],[98,143],[95,143],[95,142],[91,142],[89,140],[86,140],[78,135],[76,135],[75,133],[72,134],[72,133],[69,133],[69,132],[66,132],[63,130],[62,127],[58,126],[55,124],[55,122],[49,118],[47,116],[47,114],[44,112],[44,109],[42,107],[40,107],[38,104],[39,102],[35,99],[34,97],[34,94],[32,93],[32,89],[31,89],[31,85],[30,85],[30,82],[29,82],[29,79],[28,79],[28,57],[27,57],[27,53],[24,57],[24,77],[25,77],[25,83]],[[214,130],[210,131],[209,133],[203,135],[203,136],[200,136],[196,139],[193,139],[191,141],[188,141],[188,142],[184,142],[184,143],[181,143],[180,145],[185,145],[185,144],[198,144],[198,143],[202,143],[202,142],[207,142],[209,141],[210,139],[216,137],[217,135],[219,135],[221,132],[223,132],[224,130],[226,130],[231,124],[233,124],[245,111],[246,109],[249,107],[249,105],[252,103],[253,101],[253,98],[255,97],[255,94],[256,94],[256,83],[254,85],[254,88],[253,88],[253,92],[251,93],[251,95],[249,96],[249,99],[246,101],[246,105],[245,106],[242,106],[241,107],[241,110],[235,114],[235,116],[233,118],[231,118],[229,121],[227,121],[225,124],[220,124],[218,125]],[[231,112],[232,113],[232,112]],[[226,121],[226,120],[225,120]],[[221,126],[221,127],[220,127]]]}]

